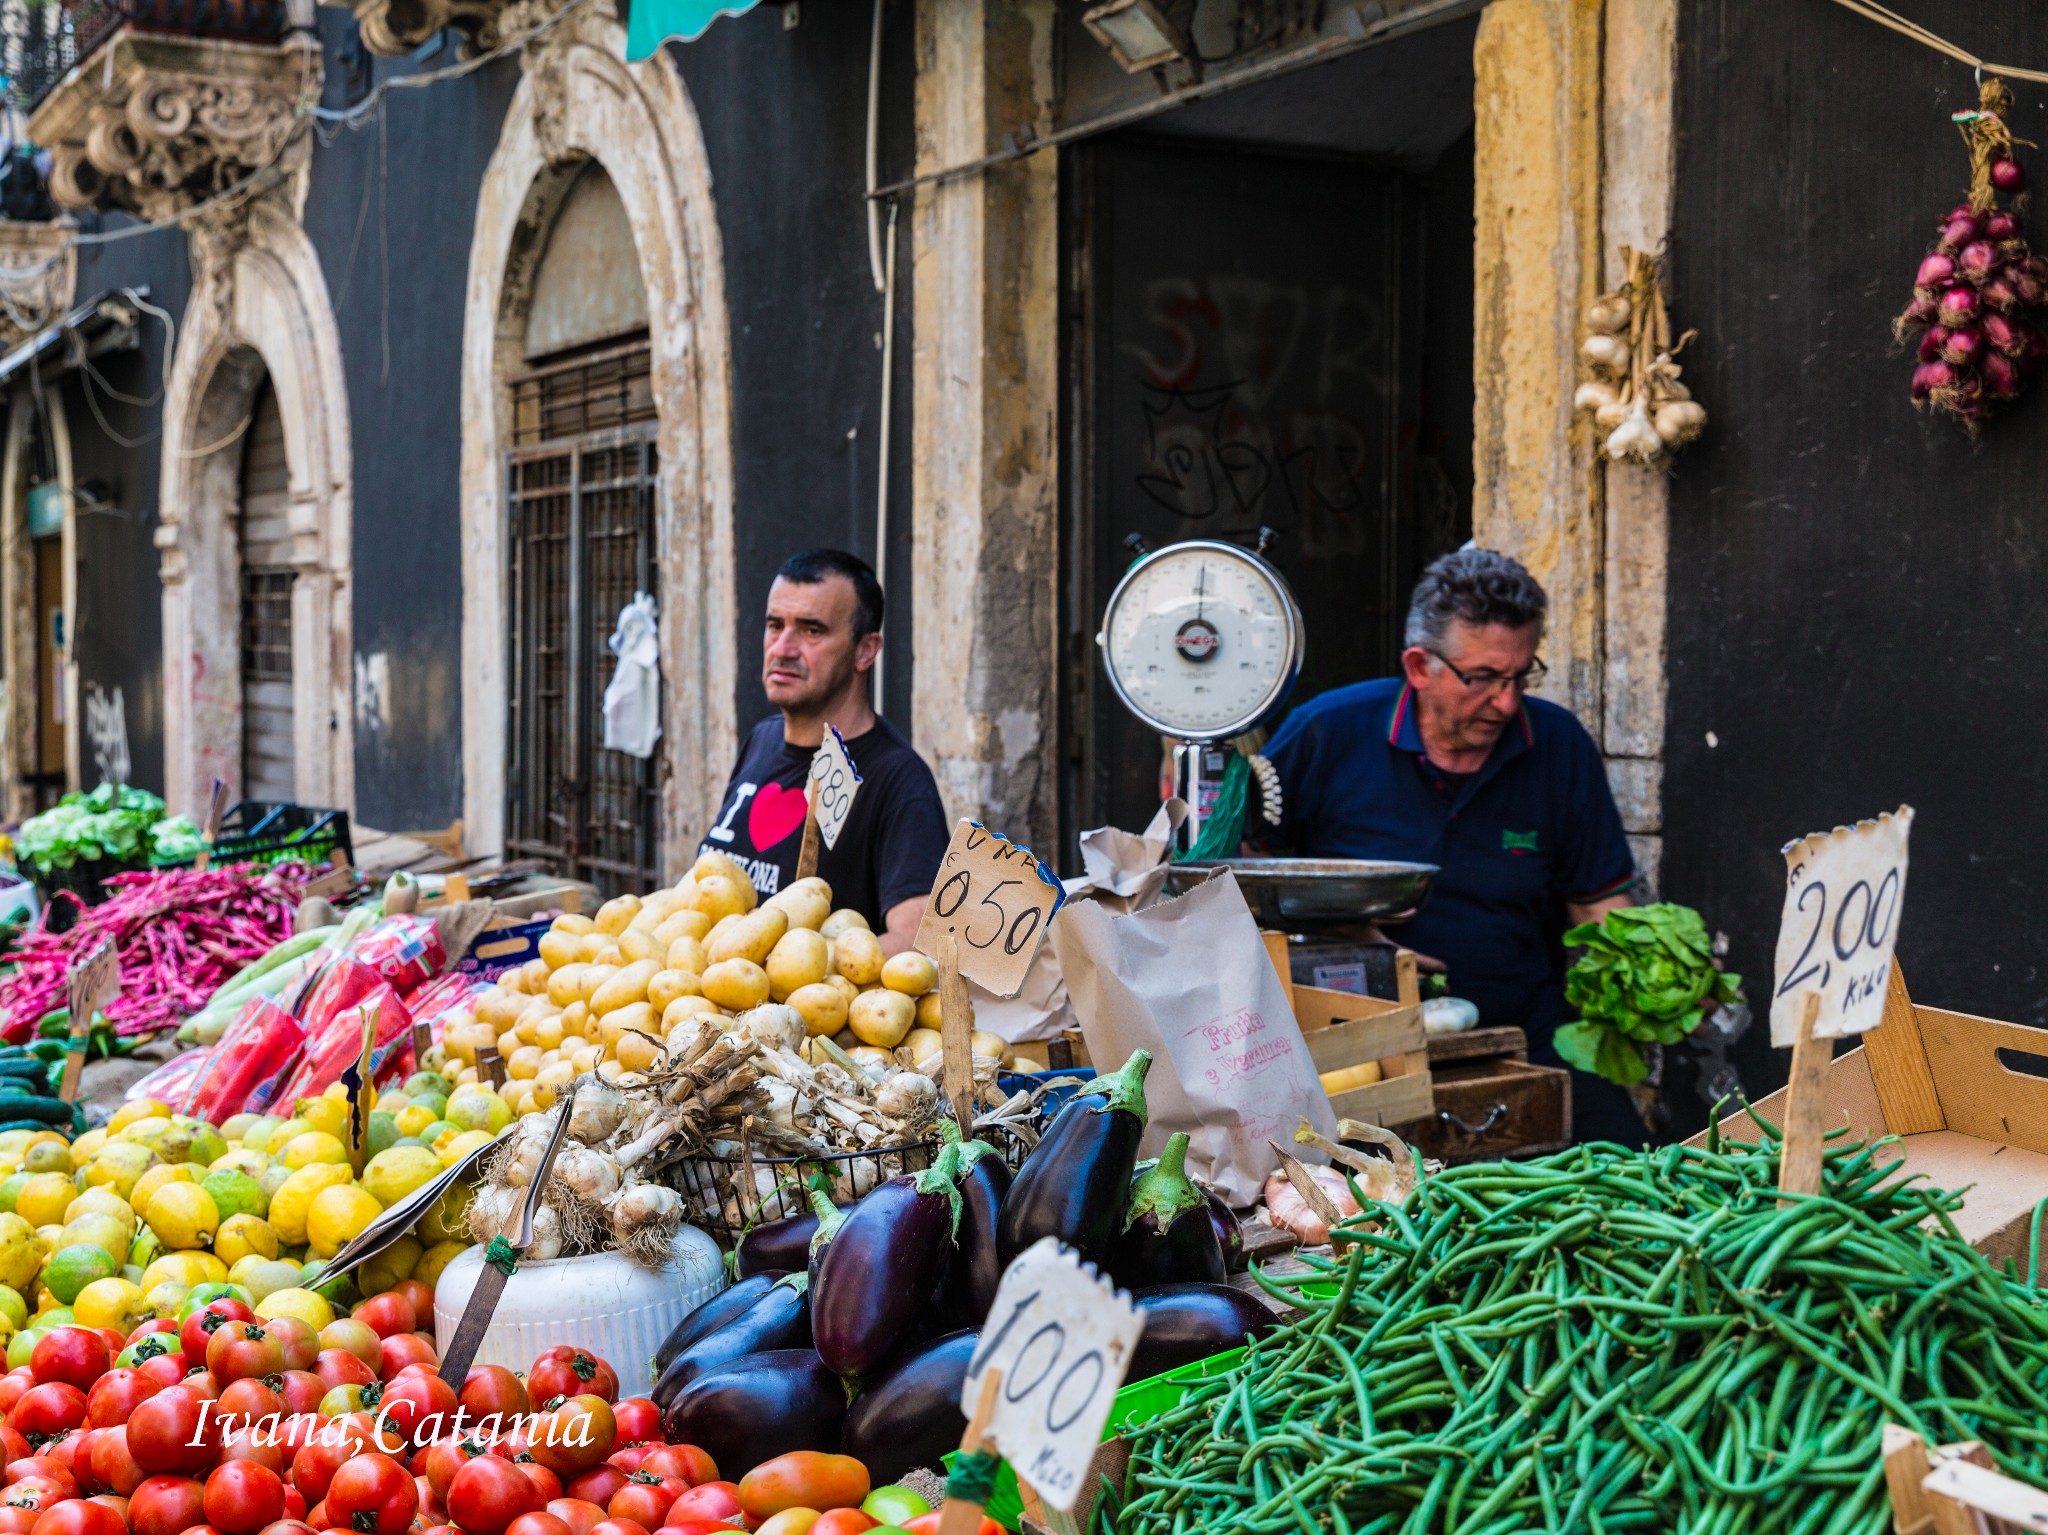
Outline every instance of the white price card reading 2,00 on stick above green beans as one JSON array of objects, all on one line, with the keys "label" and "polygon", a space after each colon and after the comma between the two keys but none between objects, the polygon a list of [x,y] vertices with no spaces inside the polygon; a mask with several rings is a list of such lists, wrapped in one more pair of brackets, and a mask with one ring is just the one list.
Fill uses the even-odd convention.
[{"label": "white price card reading 2,00 on stick above green beans", "polygon": [[1892,948],[1907,901],[1913,806],[1786,843],[1786,909],[1778,921],[1772,1044],[1798,1040],[1806,993],[1819,993],[1812,1034],[1829,1040],[1884,1021]]}]

